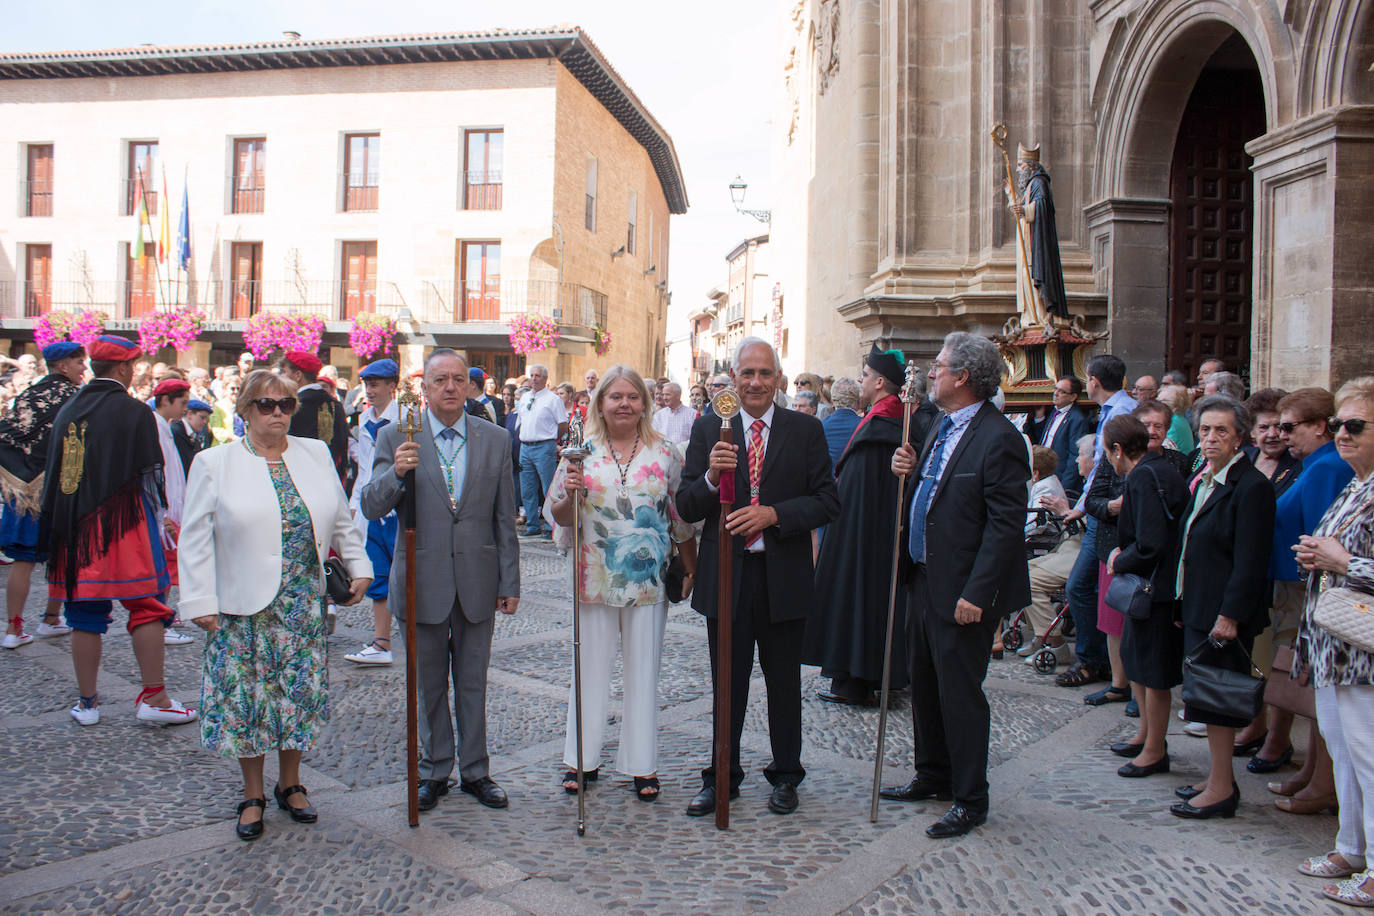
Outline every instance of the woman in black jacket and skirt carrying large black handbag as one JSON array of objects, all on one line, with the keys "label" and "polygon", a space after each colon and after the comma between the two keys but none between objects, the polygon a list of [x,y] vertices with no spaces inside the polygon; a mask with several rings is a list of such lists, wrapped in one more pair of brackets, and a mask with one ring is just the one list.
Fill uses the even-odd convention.
[{"label": "woman in black jacket and skirt carrying large black handbag", "polygon": [[[1183,516],[1175,575],[1183,650],[1248,673],[1254,636],[1268,623],[1274,488],[1241,450],[1253,426],[1243,404],[1209,396],[1198,402],[1197,415],[1206,464]],[[1223,647],[1210,648],[1209,640]],[[1205,781],[1175,790],[1183,801],[1169,810],[1178,817],[1234,817],[1241,803],[1232,769],[1235,729],[1249,718],[1193,706],[1184,706],[1184,717],[1206,724],[1210,768]]]}]

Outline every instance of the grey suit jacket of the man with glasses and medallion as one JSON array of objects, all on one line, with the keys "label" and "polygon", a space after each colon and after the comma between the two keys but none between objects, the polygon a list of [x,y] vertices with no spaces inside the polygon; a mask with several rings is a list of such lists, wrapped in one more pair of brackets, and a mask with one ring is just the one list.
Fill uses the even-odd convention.
[{"label": "grey suit jacket of the man with glasses and medallion", "polygon": [[[486,420],[467,417],[467,475],[463,497],[451,508],[438,452],[427,423],[415,441],[415,600],[418,623],[442,623],[458,596],[473,623],[491,619],[497,597],[519,596],[519,542],[515,538],[515,494],[510,472],[510,434]],[[363,515],[379,519],[401,504],[404,485],[393,470],[396,448],[404,442],[396,423],[381,430],[372,478],[363,488]],[[404,519],[403,519],[404,520]],[[405,619],[405,530],[397,531],[387,607]]]}]

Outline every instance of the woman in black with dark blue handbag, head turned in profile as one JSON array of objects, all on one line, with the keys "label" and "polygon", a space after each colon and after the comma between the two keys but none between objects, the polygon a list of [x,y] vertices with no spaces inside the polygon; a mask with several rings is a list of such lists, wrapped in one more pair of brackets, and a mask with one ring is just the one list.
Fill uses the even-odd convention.
[{"label": "woman in black with dark blue handbag, head turned in profile", "polygon": [[[1134,573],[1151,585],[1150,612],[1145,619],[1125,618],[1121,661],[1140,702],[1140,729],[1134,739],[1113,744],[1112,753],[1132,759],[1117,770],[1138,777],[1169,772],[1169,691],[1183,681],[1183,633],[1173,625],[1173,555],[1179,518],[1189,501],[1189,488],[1178,466],[1151,442],[1164,439],[1168,420],[1146,401],[1145,415],[1156,427],[1146,428],[1140,408],[1117,415],[1102,430],[1102,449],[1112,468],[1125,481],[1118,547],[1107,558],[1113,575]],[[1168,408],[1164,408],[1168,411]],[[1169,449],[1169,452],[1178,455]]]}]

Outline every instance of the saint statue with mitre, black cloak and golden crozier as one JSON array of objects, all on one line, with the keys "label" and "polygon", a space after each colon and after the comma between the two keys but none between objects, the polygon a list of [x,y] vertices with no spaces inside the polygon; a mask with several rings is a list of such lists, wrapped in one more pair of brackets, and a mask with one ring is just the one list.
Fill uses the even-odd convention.
[{"label": "saint statue with mitre, black cloak and golden crozier", "polygon": [[[1050,173],[1040,165],[1040,147],[1017,144],[1017,188],[1006,187],[1007,203],[1020,222],[1017,232],[1017,310],[1025,327],[1047,327],[1050,316],[1069,320],[1059,264],[1059,232],[1054,224]],[[1028,264],[1029,262],[1029,264]]]}]

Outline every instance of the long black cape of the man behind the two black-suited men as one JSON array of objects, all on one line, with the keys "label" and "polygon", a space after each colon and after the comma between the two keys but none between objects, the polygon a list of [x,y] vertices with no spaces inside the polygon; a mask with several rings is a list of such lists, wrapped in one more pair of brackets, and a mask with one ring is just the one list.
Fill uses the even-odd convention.
[{"label": "long black cape of the man behind the two black-suited men", "polygon": [[[929,412],[911,419],[914,442],[925,439]],[[807,621],[801,661],[819,665],[826,677],[882,681],[882,647],[888,637],[892,588],[892,538],[897,520],[897,478],[892,453],[901,444],[901,420],[875,416],[855,433],[835,463],[840,518],[826,527],[816,560],[820,608]],[[892,689],[907,674],[905,589],[897,589],[892,640]]]}]

